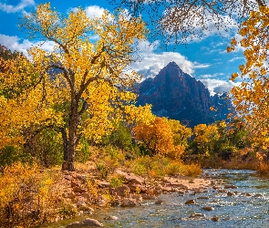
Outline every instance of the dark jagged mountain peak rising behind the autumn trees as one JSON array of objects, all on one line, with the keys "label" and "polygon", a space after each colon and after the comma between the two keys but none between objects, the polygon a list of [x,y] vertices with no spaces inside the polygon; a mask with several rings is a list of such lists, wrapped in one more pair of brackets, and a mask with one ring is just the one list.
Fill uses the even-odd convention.
[{"label": "dark jagged mountain peak rising behind the autumn trees", "polygon": [[184,73],[175,62],[163,67],[155,78],[141,82],[138,93],[138,105],[149,103],[155,115],[181,120],[190,127],[225,119],[232,108],[225,94],[211,97],[201,81]]}]

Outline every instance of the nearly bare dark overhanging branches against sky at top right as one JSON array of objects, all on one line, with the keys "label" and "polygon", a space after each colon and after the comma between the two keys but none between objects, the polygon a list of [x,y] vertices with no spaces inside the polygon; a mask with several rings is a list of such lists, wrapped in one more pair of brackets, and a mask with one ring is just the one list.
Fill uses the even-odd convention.
[{"label": "nearly bare dark overhanging branches against sky at top right", "polygon": [[[115,1],[111,1],[115,5]],[[242,22],[252,10],[263,6],[264,0],[119,0],[120,7],[127,7],[132,16],[142,12],[154,26],[152,36],[164,36],[165,42],[188,43],[206,36],[206,31],[227,31]],[[205,31],[205,32],[204,32]]]}]

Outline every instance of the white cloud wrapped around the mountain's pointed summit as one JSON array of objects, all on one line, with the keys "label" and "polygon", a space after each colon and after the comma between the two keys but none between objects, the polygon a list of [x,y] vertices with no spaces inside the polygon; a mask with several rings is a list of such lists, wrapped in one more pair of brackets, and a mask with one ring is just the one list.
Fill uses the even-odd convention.
[{"label": "white cloud wrapped around the mountain's pointed summit", "polygon": [[155,41],[150,44],[149,41],[139,42],[138,45],[138,61],[131,64],[131,68],[143,74],[145,78],[154,78],[160,72],[160,69],[174,61],[182,71],[187,74],[192,74],[195,68],[210,67],[209,64],[201,64],[191,62],[187,57],[182,56],[177,52],[161,52],[154,51],[159,46],[159,42]]}]

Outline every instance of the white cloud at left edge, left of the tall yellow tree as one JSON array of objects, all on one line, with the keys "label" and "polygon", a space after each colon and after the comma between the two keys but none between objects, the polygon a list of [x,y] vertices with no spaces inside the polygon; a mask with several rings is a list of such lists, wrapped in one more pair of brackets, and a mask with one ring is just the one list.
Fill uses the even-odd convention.
[{"label": "white cloud at left edge, left of the tall yellow tree", "polygon": [[27,49],[30,47],[36,47],[36,46],[41,46],[42,49],[46,51],[52,51],[53,47],[55,44],[53,42],[32,42],[29,41],[28,39],[21,40],[18,36],[6,36],[4,34],[0,34],[0,44],[4,45],[8,49],[12,51],[19,51],[22,52],[26,57],[28,56]]}]

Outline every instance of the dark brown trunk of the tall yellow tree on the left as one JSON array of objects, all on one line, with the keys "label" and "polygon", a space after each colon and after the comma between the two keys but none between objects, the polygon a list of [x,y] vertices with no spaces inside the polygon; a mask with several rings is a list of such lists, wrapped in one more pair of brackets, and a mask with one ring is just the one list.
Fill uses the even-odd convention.
[{"label": "dark brown trunk of the tall yellow tree on the left", "polygon": [[68,123],[67,150],[64,152],[62,171],[75,171],[74,161],[78,140],[78,102],[73,101]]}]

